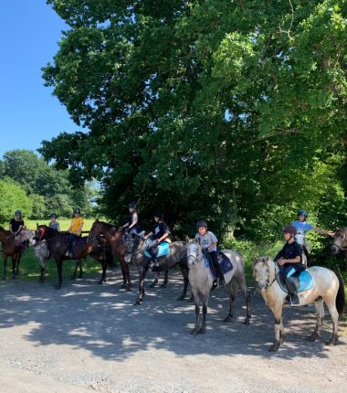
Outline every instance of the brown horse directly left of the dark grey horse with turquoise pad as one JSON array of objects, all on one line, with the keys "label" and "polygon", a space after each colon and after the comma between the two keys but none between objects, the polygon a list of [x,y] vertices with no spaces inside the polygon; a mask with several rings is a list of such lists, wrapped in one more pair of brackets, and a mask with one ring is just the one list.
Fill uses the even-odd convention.
[{"label": "brown horse directly left of the dark grey horse with turquoise pad", "polygon": [[123,241],[123,230],[117,228],[114,225],[108,224],[106,222],[99,221],[97,219],[94,221],[88,235],[87,242],[91,244],[97,236],[103,235],[105,239],[110,244],[110,250],[112,255],[121,262],[121,273],[123,275],[123,283],[121,288],[126,291],[131,290],[131,278],[129,265],[124,260],[125,246]]}]

